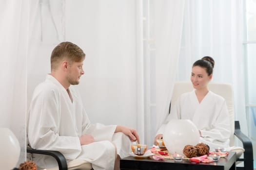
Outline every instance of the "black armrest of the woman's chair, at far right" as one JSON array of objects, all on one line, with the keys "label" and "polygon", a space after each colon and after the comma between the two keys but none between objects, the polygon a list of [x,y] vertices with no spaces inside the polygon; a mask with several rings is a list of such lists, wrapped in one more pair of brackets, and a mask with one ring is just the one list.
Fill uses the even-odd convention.
[{"label": "black armrest of the woman's chair, at far right", "polygon": [[244,148],[244,159],[238,159],[244,161],[245,170],[254,169],[254,158],[253,158],[253,144],[250,138],[242,133],[240,130],[239,121],[235,121],[235,136],[243,143]]}]

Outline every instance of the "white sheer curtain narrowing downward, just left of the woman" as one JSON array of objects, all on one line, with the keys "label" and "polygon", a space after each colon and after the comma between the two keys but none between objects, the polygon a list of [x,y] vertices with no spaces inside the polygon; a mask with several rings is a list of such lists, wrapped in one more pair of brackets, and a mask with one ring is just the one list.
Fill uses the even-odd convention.
[{"label": "white sheer curtain narrowing downward, just left of the woman", "polygon": [[[168,115],[177,70],[185,0],[154,1],[153,29],[156,41],[156,111],[151,115],[151,141]],[[149,141],[147,141],[150,143]]]}]

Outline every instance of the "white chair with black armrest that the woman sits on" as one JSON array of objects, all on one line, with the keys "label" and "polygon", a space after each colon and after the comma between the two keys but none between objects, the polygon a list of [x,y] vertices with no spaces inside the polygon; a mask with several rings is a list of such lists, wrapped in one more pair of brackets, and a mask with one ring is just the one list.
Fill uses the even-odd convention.
[{"label": "white chair with black armrest that the woman sits on", "polygon": [[[231,136],[230,136],[230,146],[234,146],[235,136],[243,143],[243,149],[239,147],[234,147],[232,151],[236,152],[237,161],[243,161],[244,167],[239,169],[244,170],[253,170],[253,145],[250,139],[245,136],[240,131],[239,121],[234,120],[234,96],[232,85],[229,84],[220,84],[220,83],[209,83],[209,90],[222,96],[227,104],[230,124],[231,124]],[[186,92],[193,90],[193,85],[191,82],[177,82],[174,85],[173,95],[170,103],[170,109],[176,103],[178,97]],[[170,113],[170,110],[169,110]],[[244,151],[244,152],[243,152]],[[241,154],[244,153],[244,158],[239,158]]]}]

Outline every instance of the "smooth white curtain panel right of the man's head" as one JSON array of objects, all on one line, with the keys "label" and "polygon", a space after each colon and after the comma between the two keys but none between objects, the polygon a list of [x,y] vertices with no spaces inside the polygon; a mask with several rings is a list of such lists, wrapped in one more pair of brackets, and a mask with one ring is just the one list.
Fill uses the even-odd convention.
[{"label": "smooth white curtain panel right of the man's head", "polygon": [[66,39],[86,53],[78,88],[89,118],[136,128],[136,1],[81,0],[79,6],[67,1]]}]

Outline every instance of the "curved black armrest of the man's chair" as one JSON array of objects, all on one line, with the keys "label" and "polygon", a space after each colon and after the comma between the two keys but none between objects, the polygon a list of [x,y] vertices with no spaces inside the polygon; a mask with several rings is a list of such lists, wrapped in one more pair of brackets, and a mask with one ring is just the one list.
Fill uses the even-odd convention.
[{"label": "curved black armrest of the man's chair", "polygon": [[68,169],[66,158],[63,156],[62,153],[58,151],[37,150],[37,149],[32,149],[30,147],[27,147],[27,153],[37,153],[37,154],[45,154],[45,155],[53,156],[58,162],[59,170]]}]

